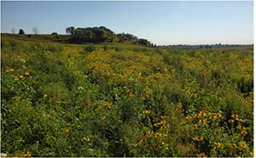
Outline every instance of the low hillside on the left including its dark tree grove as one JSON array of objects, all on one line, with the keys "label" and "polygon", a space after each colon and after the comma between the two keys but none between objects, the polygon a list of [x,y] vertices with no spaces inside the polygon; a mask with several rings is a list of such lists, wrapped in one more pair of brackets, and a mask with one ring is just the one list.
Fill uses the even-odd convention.
[{"label": "low hillside on the left including its dark tree grove", "polygon": [[40,41],[40,42],[62,42],[62,43],[101,43],[101,42],[125,42],[147,47],[156,47],[156,45],[147,39],[138,38],[129,33],[114,33],[104,26],[100,27],[86,27],[75,28],[73,26],[67,27],[66,32],[68,35],[58,35],[57,32],[51,34],[9,34],[2,33],[4,37],[13,37],[24,41]]}]

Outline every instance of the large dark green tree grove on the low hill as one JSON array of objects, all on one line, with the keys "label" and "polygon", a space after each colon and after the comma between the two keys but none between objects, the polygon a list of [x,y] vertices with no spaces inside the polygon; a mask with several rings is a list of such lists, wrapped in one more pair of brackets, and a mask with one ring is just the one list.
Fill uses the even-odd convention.
[{"label": "large dark green tree grove on the low hill", "polygon": [[135,44],[156,47],[155,44],[149,42],[147,39],[138,38],[129,33],[115,34],[104,26],[86,28],[74,28],[73,26],[70,26],[67,27],[66,32],[71,35],[71,38],[69,39],[70,42],[113,42],[114,39],[119,39],[119,42],[130,41]]}]

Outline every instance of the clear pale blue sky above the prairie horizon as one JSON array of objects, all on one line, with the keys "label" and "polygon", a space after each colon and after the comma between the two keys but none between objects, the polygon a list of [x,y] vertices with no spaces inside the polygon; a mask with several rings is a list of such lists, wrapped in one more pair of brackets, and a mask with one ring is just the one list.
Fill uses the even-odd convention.
[{"label": "clear pale blue sky above the prairie horizon", "polygon": [[157,45],[252,44],[253,1],[1,2],[1,32],[106,26]]}]

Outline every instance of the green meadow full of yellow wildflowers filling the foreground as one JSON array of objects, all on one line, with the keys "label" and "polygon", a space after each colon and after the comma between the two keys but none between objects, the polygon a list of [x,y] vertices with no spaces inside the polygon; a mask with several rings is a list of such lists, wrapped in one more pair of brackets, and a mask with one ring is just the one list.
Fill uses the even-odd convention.
[{"label": "green meadow full of yellow wildflowers filling the foreground", "polygon": [[8,156],[253,156],[253,46],[24,39],[1,42]]}]

